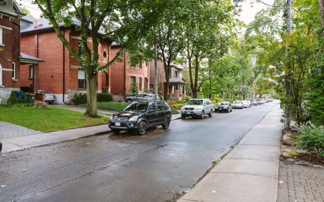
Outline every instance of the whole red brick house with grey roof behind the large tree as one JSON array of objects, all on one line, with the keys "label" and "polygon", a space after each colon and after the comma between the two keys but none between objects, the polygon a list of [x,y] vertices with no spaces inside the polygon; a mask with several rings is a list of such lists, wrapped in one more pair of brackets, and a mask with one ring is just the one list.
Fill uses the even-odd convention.
[{"label": "whole red brick house with grey roof behind the large tree", "polygon": [[[79,44],[81,38],[75,27],[80,21],[73,18],[71,27],[60,25],[67,41],[81,54]],[[76,59],[64,47],[57,37],[53,26],[45,18],[35,19],[24,16],[21,19],[21,50],[35,58],[42,58],[37,68],[30,65],[21,66],[21,86],[30,88],[33,92],[47,90],[56,95],[56,103],[70,102],[75,93],[87,93],[86,73]],[[104,33],[98,32],[99,36]],[[92,40],[88,38],[91,47]],[[99,60],[101,65],[106,64],[110,57],[111,39],[101,39],[99,42]],[[109,91],[110,70],[98,72],[97,91]],[[104,84],[102,86],[101,84]]]}]

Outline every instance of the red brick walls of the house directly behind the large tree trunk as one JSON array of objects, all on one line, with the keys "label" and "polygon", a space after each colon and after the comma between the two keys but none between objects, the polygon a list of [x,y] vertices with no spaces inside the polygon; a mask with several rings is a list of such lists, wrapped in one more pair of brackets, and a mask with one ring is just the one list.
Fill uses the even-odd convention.
[{"label": "red brick walls of the house directly behind the large tree trunk", "polygon": [[[33,24],[45,23],[46,19],[30,19],[34,20]],[[30,25],[30,26],[34,26]],[[41,25],[42,27],[42,25]],[[78,40],[80,40],[79,32],[74,31],[74,28],[62,28],[62,32],[67,39],[67,41],[78,50]],[[110,40],[101,40],[99,41],[99,60],[98,62],[101,65],[104,65],[109,61],[110,53]],[[88,45],[91,47],[92,40],[88,38]],[[56,95],[56,103],[69,102],[73,93],[85,92],[86,89],[78,88],[78,70],[82,69],[80,64],[76,59],[70,54],[66,47],[63,47],[63,43],[57,37],[57,34],[51,27],[47,29],[39,29],[39,27],[32,28],[27,27],[21,30],[21,49],[22,52],[36,57],[41,58],[44,62],[39,63],[38,65],[38,79],[34,77],[33,79],[29,78],[29,65],[21,66],[21,86],[31,86],[32,81],[37,79],[38,87],[35,88],[36,92],[38,89],[47,90]],[[64,51],[63,51],[64,50]],[[106,58],[104,58],[104,52],[106,52]],[[34,70],[35,71],[35,70]],[[108,71],[108,75],[109,71]],[[106,76],[106,74],[105,74]],[[98,86],[97,90],[102,91],[102,79],[105,81],[109,78],[103,77],[102,72],[98,72]],[[64,80],[64,82],[63,82]],[[63,86],[64,85],[64,86]],[[105,83],[105,87],[109,87]],[[73,93],[71,93],[73,92]],[[63,97],[64,95],[64,97]]]}]

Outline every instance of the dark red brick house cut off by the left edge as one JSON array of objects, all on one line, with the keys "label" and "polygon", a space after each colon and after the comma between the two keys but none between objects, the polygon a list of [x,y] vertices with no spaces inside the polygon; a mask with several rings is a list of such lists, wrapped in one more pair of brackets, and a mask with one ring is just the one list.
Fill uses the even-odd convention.
[{"label": "dark red brick house cut off by the left edge", "polygon": [[20,18],[24,15],[15,0],[0,1],[0,103],[7,102],[12,90],[20,90],[20,65],[42,62],[20,52]]}]

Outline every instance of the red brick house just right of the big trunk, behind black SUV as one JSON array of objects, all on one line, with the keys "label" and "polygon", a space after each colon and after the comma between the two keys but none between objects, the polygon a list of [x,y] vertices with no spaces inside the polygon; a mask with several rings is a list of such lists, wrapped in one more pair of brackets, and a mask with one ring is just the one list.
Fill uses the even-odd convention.
[{"label": "red brick house just right of the big trunk, behind black SUV", "polygon": [[[111,45],[111,57],[114,57],[119,49],[120,45],[113,42]],[[127,96],[127,91],[135,83],[138,85],[139,92],[148,92],[150,79],[149,65],[145,62],[132,65],[127,52],[124,53],[123,62],[115,62],[111,65],[109,71],[111,72],[110,92],[113,94],[114,100],[124,100]]]}]

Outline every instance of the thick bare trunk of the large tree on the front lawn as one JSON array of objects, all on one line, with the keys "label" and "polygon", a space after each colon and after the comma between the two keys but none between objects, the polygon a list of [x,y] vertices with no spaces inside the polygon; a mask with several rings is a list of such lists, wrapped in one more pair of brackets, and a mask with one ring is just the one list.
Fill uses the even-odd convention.
[{"label": "thick bare trunk of the large tree on the front lawn", "polygon": [[99,118],[97,114],[97,73],[89,68],[87,72],[87,111],[86,117]]}]

